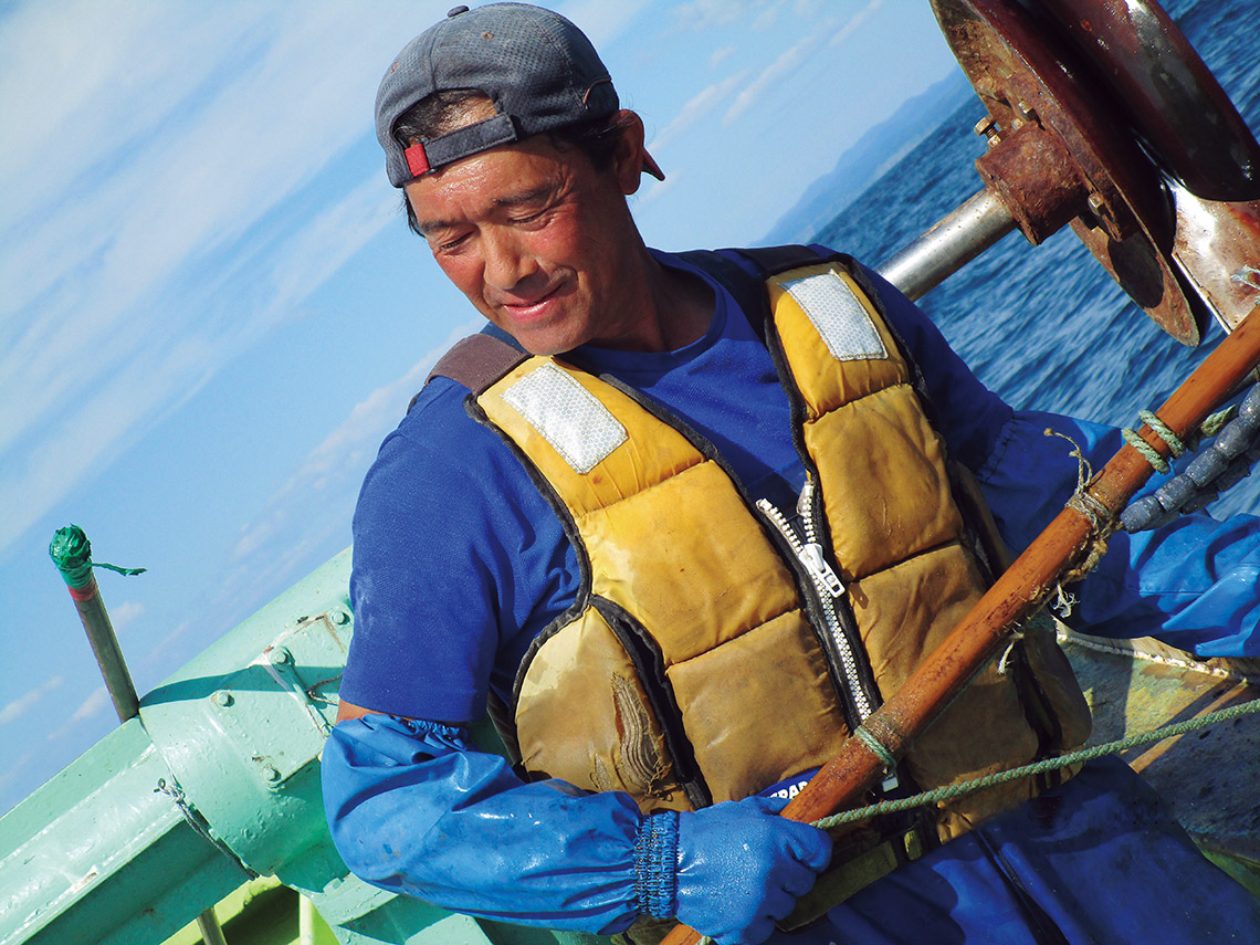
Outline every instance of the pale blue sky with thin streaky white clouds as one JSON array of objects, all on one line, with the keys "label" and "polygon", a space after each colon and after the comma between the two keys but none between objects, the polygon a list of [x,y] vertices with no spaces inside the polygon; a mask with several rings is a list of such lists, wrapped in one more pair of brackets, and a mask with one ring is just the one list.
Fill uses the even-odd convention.
[{"label": "pale blue sky with thin streaky white clouds", "polygon": [[[117,721],[53,533],[140,693],[350,543],[476,314],[407,232],[372,103],[430,3],[0,4],[0,811]],[[667,180],[664,249],[762,241],[956,69],[924,0],[573,0]],[[925,122],[941,116],[925,116]]]}]

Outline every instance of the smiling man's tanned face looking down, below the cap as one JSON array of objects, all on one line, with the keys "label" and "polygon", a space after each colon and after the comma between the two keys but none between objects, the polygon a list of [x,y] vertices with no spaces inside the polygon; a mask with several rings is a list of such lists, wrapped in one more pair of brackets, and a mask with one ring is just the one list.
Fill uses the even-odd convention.
[{"label": "smiling man's tanned face looking down, below the cap", "polygon": [[598,173],[544,135],[465,158],[407,185],[433,258],[485,318],[534,354],[587,341],[634,348],[626,285],[641,241],[625,194],[639,168]]}]

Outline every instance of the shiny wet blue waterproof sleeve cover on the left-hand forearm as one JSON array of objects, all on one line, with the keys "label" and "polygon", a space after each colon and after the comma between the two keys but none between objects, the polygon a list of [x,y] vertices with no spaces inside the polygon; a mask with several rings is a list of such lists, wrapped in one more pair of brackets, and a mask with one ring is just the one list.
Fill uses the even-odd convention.
[{"label": "shiny wet blue waterproof sleeve cover on the left-hand forearm", "polygon": [[444,908],[612,935],[638,916],[641,815],[621,791],[523,782],[462,728],[369,714],[339,723],[324,805],[346,866]]}]

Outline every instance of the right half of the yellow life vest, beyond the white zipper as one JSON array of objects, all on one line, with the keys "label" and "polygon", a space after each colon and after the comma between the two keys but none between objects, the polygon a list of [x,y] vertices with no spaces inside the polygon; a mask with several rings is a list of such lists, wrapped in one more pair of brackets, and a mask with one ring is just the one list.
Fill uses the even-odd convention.
[{"label": "right half of the yellow life vest, beyond the white zipper", "polygon": [[[800,291],[801,280],[813,282],[809,292]],[[887,699],[979,601],[987,582],[975,552],[960,541],[964,522],[944,442],[869,296],[829,263],[777,276],[769,286],[835,561],[852,582],[848,600]],[[849,350],[868,358],[850,358]],[[1087,709],[1082,713],[1084,698],[1066,659],[1052,665],[1052,639],[1034,646],[1038,668],[1053,678],[1022,690],[1009,667],[983,669],[907,752],[906,766],[921,786],[1034,759],[1042,741],[1037,722],[1061,736],[1087,733]],[[1016,649],[1019,660],[1028,659],[1027,646]],[[1086,721],[1062,721],[1081,718]],[[1026,779],[955,800],[941,810],[940,837],[950,839],[1036,793]]]}]

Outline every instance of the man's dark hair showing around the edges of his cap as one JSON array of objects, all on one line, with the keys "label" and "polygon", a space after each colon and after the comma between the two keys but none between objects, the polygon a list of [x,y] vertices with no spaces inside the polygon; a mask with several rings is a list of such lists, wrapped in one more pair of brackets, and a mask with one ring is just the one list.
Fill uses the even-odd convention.
[{"label": "man's dark hair showing around the edges of his cap", "polygon": [[[394,122],[394,137],[403,147],[410,147],[417,141],[445,135],[467,125],[478,106],[488,102],[490,97],[475,88],[433,92],[398,116],[398,121]],[[590,159],[595,170],[602,173],[612,166],[612,156],[624,132],[625,123],[619,112],[612,112],[544,134],[559,150],[576,147]],[[407,213],[407,227],[412,233],[423,236],[407,194],[402,197],[402,205]]]}]

